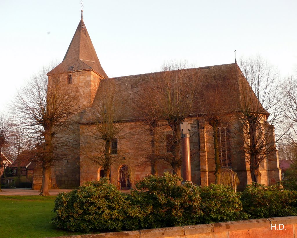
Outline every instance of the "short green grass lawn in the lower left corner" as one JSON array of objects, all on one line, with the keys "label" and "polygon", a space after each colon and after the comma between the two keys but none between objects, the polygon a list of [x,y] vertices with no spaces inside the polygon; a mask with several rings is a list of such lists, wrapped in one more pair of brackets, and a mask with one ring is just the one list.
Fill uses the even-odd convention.
[{"label": "short green grass lawn in the lower left corner", "polygon": [[0,196],[0,237],[56,237],[83,233],[50,223],[56,196]]}]

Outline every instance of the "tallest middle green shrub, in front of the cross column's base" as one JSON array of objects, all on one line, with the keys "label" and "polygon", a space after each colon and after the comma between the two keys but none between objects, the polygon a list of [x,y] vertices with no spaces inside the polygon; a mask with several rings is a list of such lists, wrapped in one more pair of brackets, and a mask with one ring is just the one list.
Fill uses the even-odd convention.
[{"label": "tallest middle green shrub, in front of the cross column's base", "polygon": [[162,177],[150,175],[136,184],[128,196],[127,229],[159,228],[197,224],[201,220],[199,188],[182,178],[165,172]]}]

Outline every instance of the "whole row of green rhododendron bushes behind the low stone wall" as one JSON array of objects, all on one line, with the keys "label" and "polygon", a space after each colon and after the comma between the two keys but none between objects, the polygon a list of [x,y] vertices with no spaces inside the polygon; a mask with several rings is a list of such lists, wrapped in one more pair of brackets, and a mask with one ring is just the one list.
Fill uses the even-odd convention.
[{"label": "whole row of green rhododendron bushes behind the low stone wall", "polygon": [[131,194],[105,178],[57,196],[52,223],[69,231],[121,231],[297,215],[297,192],[252,184],[242,193],[225,185],[200,187],[165,173],[148,176]]}]

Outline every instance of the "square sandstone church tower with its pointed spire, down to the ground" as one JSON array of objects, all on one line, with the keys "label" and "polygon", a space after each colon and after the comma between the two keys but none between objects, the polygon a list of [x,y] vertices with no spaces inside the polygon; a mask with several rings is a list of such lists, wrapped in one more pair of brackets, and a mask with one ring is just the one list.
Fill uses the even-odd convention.
[{"label": "square sandstone church tower with its pointed spire, down to the ground", "polygon": [[[75,87],[78,94],[80,116],[91,107],[101,79],[108,78],[101,67],[89,33],[83,22],[83,11],[78,27],[72,37],[63,61],[47,73],[48,80],[59,80]],[[78,116],[78,119],[80,118]],[[71,134],[64,136],[69,142],[71,152],[52,167],[51,187],[73,188],[80,185],[80,127],[73,124]],[[63,137],[63,136],[62,136]],[[64,141],[65,143],[65,141]]]}]

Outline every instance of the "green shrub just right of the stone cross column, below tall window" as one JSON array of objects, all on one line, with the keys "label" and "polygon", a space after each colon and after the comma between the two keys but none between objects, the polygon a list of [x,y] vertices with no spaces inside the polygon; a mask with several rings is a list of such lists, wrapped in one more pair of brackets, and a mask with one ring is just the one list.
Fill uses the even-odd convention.
[{"label": "green shrub just right of the stone cross column, below tall window", "polygon": [[201,187],[203,223],[247,219],[239,195],[226,185]]}]

